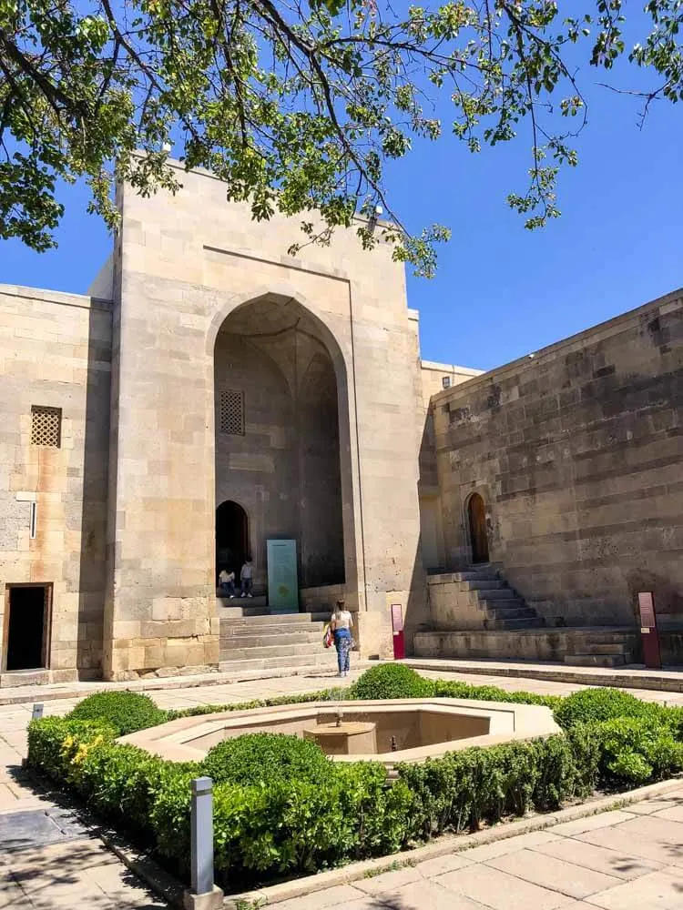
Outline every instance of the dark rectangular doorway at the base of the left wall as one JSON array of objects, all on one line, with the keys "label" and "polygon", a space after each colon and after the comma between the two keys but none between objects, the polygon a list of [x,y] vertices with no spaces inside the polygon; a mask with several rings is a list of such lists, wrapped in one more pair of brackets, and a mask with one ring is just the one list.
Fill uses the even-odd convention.
[{"label": "dark rectangular doorway at the base of the left wall", "polygon": [[46,669],[49,630],[50,586],[8,585],[4,669]]}]

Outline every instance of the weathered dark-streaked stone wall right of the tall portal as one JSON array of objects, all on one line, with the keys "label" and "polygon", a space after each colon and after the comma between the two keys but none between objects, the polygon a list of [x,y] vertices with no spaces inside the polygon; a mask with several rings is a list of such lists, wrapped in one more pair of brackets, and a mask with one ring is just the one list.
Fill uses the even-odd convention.
[{"label": "weathered dark-streaked stone wall right of the tall portal", "polygon": [[432,399],[446,558],[491,560],[548,624],[683,626],[683,293]]}]

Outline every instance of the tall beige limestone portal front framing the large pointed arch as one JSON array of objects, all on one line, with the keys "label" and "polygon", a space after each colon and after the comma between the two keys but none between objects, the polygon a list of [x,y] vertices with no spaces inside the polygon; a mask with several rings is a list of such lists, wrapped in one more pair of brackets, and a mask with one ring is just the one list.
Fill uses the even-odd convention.
[{"label": "tall beige limestone portal front framing the large pointed arch", "polygon": [[[182,183],[175,197],[141,199],[126,187],[119,193],[105,674],[126,678],[218,662],[214,515],[223,497],[246,498],[250,485],[251,501],[240,504],[260,535],[253,541],[257,577],[264,538],[280,531],[301,542],[305,521],[308,559],[306,539],[316,539],[318,520],[302,510],[293,418],[280,412],[276,420],[263,410],[269,395],[291,394],[287,351],[256,339],[254,358],[267,350],[280,363],[271,369],[270,387],[264,379],[260,389],[243,372],[249,360],[229,356],[230,345],[234,355],[262,329],[261,317],[271,319],[273,331],[290,330],[288,307],[331,365],[337,392],[341,539],[325,541],[330,560],[313,553],[305,565],[336,559],[331,581],[341,581],[341,569],[362,652],[385,653],[388,601],[403,605],[408,629],[426,618],[417,494],[422,389],[403,268],[392,262],[391,248],[363,253],[353,231],[340,232],[331,248],[288,257],[296,219],[255,223],[247,207],[226,204],[213,177],[183,174]],[[250,307],[259,319],[250,319]],[[227,349],[216,379],[220,339]],[[237,465],[234,446],[215,458],[215,383],[233,380],[246,386],[252,446]],[[250,399],[261,402],[258,418]],[[254,460],[259,434],[265,439]],[[334,471],[327,463],[318,466],[323,477]],[[316,586],[319,579],[311,581]]]}]

